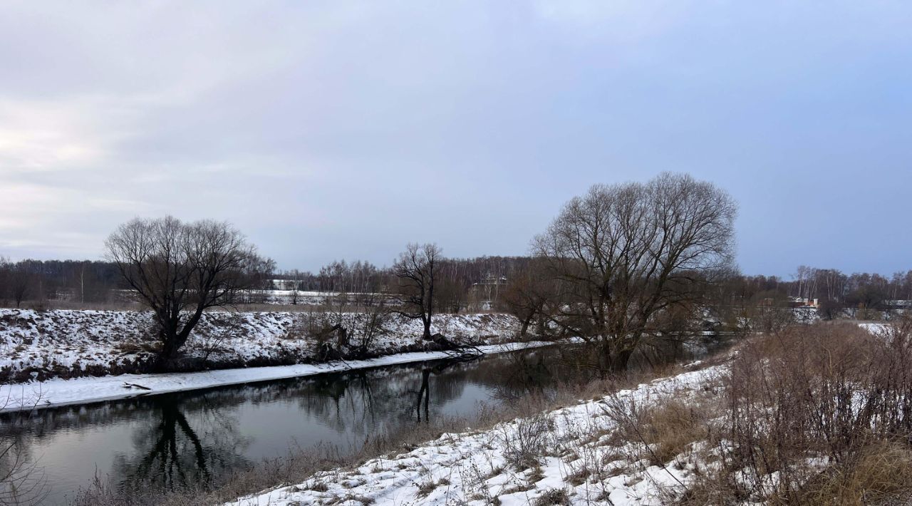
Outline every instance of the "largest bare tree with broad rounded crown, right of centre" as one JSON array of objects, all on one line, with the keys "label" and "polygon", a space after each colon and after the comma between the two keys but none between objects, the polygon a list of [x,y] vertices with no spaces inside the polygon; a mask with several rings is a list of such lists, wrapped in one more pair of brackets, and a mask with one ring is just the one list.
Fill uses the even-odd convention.
[{"label": "largest bare tree with broad rounded crown, right of centre", "polygon": [[626,368],[656,316],[731,263],[736,213],[727,192],[689,175],[596,184],[534,240],[559,282],[551,323],[599,345],[601,367]]}]

